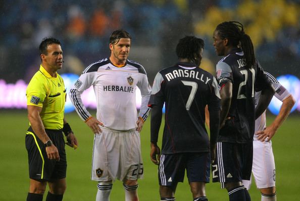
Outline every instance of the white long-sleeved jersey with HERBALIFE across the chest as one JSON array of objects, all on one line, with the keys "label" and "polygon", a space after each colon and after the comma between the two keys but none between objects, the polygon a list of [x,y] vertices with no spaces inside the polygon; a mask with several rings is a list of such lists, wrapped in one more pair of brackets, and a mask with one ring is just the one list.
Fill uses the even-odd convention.
[{"label": "white long-sleeved jersey with HERBALIFE across the chest", "polygon": [[[127,60],[126,65],[118,68],[108,58],[90,64],[70,90],[69,96],[82,120],[90,113],[81,100],[84,90],[93,86],[96,96],[97,120],[114,130],[129,130],[136,127],[137,117],[146,120],[149,112],[147,103],[151,87],[144,68]],[[137,115],[136,87],[141,92],[141,108]]]}]

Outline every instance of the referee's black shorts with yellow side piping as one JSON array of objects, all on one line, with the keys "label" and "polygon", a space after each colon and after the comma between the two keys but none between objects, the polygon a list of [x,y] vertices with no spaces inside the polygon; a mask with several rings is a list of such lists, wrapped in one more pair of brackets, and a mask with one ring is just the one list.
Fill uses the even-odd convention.
[{"label": "referee's black shorts with yellow side piping", "polygon": [[48,159],[43,143],[35,135],[30,126],[25,137],[25,145],[28,152],[29,178],[46,181],[65,178],[67,159],[64,135],[61,130],[45,129],[45,131],[57,147],[60,161]]}]

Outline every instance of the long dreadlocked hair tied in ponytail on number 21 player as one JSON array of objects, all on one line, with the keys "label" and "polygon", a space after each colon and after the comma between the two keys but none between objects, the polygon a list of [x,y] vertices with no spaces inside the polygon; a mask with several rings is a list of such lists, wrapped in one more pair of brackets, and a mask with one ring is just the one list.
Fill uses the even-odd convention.
[{"label": "long dreadlocked hair tied in ponytail on number 21 player", "polygon": [[240,45],[248,68],[252,68],[255,64],[254,47],[250,36],[245,34],[243,25],[236,21],[223,22],[217,26],[216,30],[222,39],[228,39],[229,44]]}]

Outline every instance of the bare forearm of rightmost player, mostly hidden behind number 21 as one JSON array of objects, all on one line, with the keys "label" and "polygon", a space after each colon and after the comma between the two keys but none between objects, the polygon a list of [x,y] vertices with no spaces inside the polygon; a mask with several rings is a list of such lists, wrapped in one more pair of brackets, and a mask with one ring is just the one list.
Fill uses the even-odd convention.
[{"label": "bare forearm of rightmost player, mostly hidden behind number 21", "polygon": [[272,127],[275,128],[275,130],[278,129],[278,127],[283,123],[283,121],[287,118],[289,115],[292,107],[295,104],[295,100],[292,97],[292,95],[288,96],[286,99],[282,101],[281,108],[279,110],[279,114],[276,116],[275,120],[271,124]]}]

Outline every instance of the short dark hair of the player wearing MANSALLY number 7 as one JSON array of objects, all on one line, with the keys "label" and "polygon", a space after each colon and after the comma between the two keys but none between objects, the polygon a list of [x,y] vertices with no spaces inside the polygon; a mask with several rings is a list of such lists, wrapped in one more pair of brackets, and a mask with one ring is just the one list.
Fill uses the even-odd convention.
[{"label": "short dark hair of the player wearing MANSALLY number 7", "polygon": [[181,38],[176,46],[178,58],[188,58],[193,60],[204,48],[204,40],[195,36],[185,36]]}]

